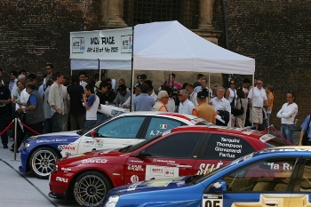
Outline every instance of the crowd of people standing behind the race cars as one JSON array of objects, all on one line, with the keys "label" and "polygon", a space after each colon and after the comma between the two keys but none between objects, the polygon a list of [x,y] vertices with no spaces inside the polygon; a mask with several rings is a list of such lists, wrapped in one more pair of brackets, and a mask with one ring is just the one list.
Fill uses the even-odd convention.
[{"label": "crowd of people standing behind the race cars", "polygon": [[[101,105],[132,107],[133,111],[196,115],[209,123],[223,126],[229,122],[236,127],[251,126],[253,123],[257,130],[263,130],[269,126],[269,115],[274,104],[273,87],[267,85],[264,88],[260,79],[255,79],[253,86],[249,79],[244,79],[240,88],[235,88],[235,81],[231,79],[227,90],[218,85],[210,89],[203,74],[197,75],[194,84],[180,84],[176,81],[176,75],[171,73],[156,94],[152,81],[145,74],[137,76],[133,89],[127,87],[124,78],[121,78],[114,90],[112,80],[103,74],[96,74],[93,80],[89,80],[85,71],[69,78],[61,72],[54,74],[52,64],[46,64],[45,70],[43,83],[37,88],[36,75],[25,70],[12,70],[10,83],[6,87],[0,69],[0,131],[4,131],[8,115],[9,118],[19,117],[29,128],[27,130],[19,124],[17,147],[26,136],[36,133],[90,129],[106,118],[98,111]],[[287,93],[287,100],[277,117],[281,118],[283,137],[293,142],[298,106],[293,92]],[[304,123],[303,129],[306,128],[307,123]],[[11,139],[13,135],[12,131]],[[4,148],[7,148],[6,131],[1,139]],[[14,144],[12,151],[13,147]]]}]

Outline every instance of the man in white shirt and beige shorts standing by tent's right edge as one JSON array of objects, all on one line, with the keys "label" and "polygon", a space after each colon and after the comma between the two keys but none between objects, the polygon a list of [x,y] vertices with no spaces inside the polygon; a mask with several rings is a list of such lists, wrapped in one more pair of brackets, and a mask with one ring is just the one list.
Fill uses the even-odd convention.
[{"label": "man in white shirt and beige shorts standing by tent's right edge", "polygon": [[257,79],[257,86],[251,88],[247,96],[256,130],[258,130],[259,123],[262,123],[263,121],[262,108],[268,106],[267,93],[266,90],[262,88],[262,83],[262,80]]}]

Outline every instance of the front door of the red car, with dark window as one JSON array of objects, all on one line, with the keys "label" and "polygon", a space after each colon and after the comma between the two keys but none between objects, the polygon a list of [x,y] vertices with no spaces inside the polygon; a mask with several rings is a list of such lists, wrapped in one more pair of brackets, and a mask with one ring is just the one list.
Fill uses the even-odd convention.
[{"label": "front door of the red car, with dark window", "polygon": [[179,132],[141,150],[146,157],[132,155],[124,167],[124,184],[147,179],[190,175],[203,133]]}]

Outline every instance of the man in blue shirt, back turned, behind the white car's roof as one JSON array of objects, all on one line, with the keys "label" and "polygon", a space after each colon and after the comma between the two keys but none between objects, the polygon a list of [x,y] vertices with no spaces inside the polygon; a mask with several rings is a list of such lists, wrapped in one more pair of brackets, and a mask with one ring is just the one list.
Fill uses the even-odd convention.
[{"label": "man in blue shirt, back turned, behind the white car's roof", "polygon": [[155,105],[155,100],[148,95],[148,84],[140,85],[141,93],[133,100],[134,111],[152,111],[152,107]]}]

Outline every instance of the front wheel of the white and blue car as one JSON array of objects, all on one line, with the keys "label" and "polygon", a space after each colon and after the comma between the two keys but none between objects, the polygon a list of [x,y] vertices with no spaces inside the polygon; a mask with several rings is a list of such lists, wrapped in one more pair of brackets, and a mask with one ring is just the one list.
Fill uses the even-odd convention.
[{"label": "front wheel of the white and blue car", "polygon": [[29,159],[29,169],[38,179],[49,179],[54,163],[60,155],[50,147],[37,148]]}]

